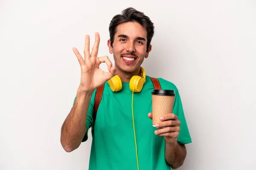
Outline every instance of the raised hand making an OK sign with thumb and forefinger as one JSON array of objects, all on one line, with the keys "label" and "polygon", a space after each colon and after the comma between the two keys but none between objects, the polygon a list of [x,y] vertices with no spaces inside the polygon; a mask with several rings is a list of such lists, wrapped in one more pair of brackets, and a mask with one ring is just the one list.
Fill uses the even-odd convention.
[{"label": "raised hand making an OK sign with thumb and forefinger", "polygon": [[[79,88],[84,92],[94,91],[99,86],[103,85],[109,79],[116,75],[116,68],[112,66],[112,62],[108,56],[97,57],[99,51],[99,33],[95,33],[95,42],[90,54],[90,37],[85,36],[84,59],[76,48],[73,48],[74,53],[81,66],[81,82]],[[108,71],[105,72],[99,65],[105,62],[108,65]]]}]

